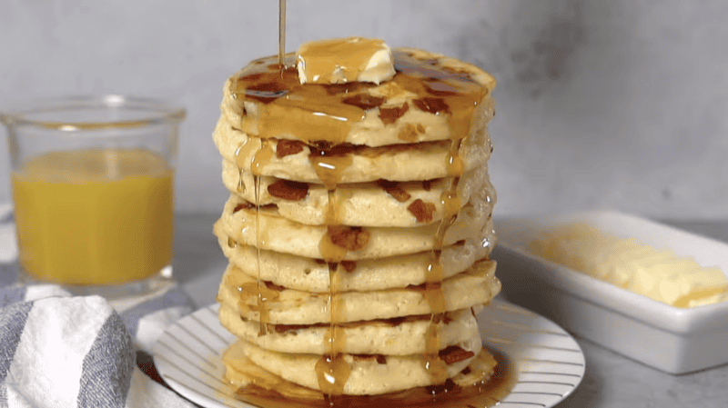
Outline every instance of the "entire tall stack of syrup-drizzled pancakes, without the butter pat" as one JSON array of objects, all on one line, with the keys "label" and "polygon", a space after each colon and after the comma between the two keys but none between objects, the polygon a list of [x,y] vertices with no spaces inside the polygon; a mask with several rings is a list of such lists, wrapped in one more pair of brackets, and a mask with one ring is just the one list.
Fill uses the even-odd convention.
[{"label": "entire tall stack of syrup-drizzled pancakes, without the butter pat", "polygon": [[500,291],[487,161],[493,78],[393,50],[380,84],[300,84],[293,55],[227,80],[220,322],[240,387],[299,397],[490,375],[475,315]]}]

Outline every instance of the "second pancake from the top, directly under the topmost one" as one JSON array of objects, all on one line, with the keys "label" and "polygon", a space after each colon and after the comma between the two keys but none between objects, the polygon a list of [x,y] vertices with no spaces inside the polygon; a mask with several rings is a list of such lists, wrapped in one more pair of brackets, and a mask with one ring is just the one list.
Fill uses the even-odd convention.
[{"label": "second pancake from the top, directly under the topmost one", "polygon": [[[472,134],[463,134],[461,138],[464,140],[455,152],[463,160],[464,171],[469,172],[490,157],[490,136],[480,129]],[[453,151],[452,145],[457,144],[443,140],[379,147],[347,145],[327,150],[301,143],[298,144],[301,149],[298,153],[286,154],[291,150],[281,153],[284,150],[279,139],[250,136],[224,120],[217,122],[213,139],[223,158],[237,164],[242,172],[304,183],[325,182],[326,175],[322,174],[325,170],[319,167],[317,159],[329,158],[339,164],[335,184],[446,177],[452,175],[447,163]]]}]

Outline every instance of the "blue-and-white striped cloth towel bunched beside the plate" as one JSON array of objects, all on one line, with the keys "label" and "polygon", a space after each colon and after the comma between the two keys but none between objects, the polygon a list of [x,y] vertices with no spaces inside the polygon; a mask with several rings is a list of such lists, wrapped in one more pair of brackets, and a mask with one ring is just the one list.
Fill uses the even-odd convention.
[{"label": "blue-and-white striped cloth towel bunched beside the plate", "polygon": [[112,306],[55,285],[0,288],[0,408],[193,407],[136,365],[191,303],[176,285]]}]

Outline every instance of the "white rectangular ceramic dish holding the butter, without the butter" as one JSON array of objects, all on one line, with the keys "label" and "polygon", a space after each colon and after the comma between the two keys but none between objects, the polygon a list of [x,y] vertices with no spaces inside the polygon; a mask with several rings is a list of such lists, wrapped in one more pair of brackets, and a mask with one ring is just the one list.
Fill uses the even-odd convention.
[{"label": "white rectangular ceramic dish holding the butter, without the butter", "polygon": [[728,271],[728,244],[639,217],[585,212],[496,220],[493,258],[509,301],[562,327],[666,373],[690,373],[728,363],[728,303],[681,309],[607,284],[531,254],[544,229],[585,221],[607,234],[633,237],[656,249],[691,256]]}]

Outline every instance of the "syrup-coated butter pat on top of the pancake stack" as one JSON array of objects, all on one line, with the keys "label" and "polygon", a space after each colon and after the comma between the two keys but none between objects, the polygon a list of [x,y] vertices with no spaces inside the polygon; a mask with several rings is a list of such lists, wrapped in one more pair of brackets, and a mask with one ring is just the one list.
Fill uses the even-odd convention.
[{"label": "syrup-coated butter pat on top of the pancake stack", "polygon": [[384,41],[348,37],[304,43],[296,52],[301,84],[345,84],[391,79],[392,52]]}]

